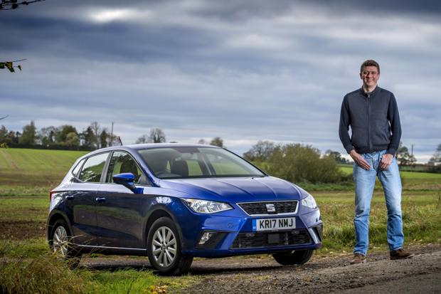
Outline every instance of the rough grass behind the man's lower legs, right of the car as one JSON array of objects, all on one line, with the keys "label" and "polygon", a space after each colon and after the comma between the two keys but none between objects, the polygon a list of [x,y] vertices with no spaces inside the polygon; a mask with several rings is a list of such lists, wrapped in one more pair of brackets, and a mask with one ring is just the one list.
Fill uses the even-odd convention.
[{"label": "rough grass behind the man's lower legs, right of the car", "polygon": [[[351,251],[354,246],[354,192],[314,193],[324,222],[322,251]],[[404,191],[403,230],[406,243],[440,243],[441,201],[436,191]],[[369,243],[371,249],[386,248],[387,212],[383,192],[371,203]]]}]

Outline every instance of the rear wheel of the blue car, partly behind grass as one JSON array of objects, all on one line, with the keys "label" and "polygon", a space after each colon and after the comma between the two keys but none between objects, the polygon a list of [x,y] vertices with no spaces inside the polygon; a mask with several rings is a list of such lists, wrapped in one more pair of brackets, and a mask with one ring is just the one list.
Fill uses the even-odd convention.
[{"label": "rear wheel of the blue car, partly behind grass", "polygon": [[81,253],[73,248],[71,241],[72,234],[68,224],[63,219],[55,221],[49,238],[51,251],[55,256],[68,261],[70,268],[76,268],[80,264]]}]

